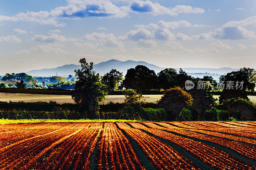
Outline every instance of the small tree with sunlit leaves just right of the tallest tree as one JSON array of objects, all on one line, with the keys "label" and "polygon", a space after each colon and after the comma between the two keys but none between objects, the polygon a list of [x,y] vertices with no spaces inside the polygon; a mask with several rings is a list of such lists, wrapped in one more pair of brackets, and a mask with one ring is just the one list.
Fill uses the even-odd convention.
[{"label": "small tree with sunlit leaves just right of the tallest tree", "polygon": [[122,79],[123,73],[116,71],[116,69],[112,69],[109,73],[102,77],[101,82],[104,85],[107,85],[109,90],[114,90]]}]

